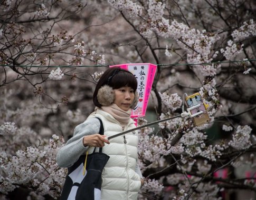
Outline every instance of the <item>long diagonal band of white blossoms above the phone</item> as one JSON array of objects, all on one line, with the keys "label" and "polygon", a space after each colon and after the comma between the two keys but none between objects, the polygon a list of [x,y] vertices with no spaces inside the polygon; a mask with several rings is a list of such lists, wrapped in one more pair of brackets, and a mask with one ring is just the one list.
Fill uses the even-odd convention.
[{"label": "long diagonal band of white blossoms above the phone", "polygon": [[[158,17],[159,18],[159,17]],[[183,23],[172,21],[169,23],[168,19],[162,17],[158,20],[150,18],[148,23],[141,25],[141,34],[150,37],[149,34],[156,33],[160,37],[171,37],[176,39],[177,43],[187,51],[188,63],[210,63],[219,52],[214,52],[212,55],[212,48],[216,41],[220,39],[217,34],[202,33],[194,28],[189,28]],[[184,44],[185,43],[185,44]],[[169,55],[169,54],[168,54]],[[221,66],[218,64],[211,65],[197,65],[196,66],[204,76],[214,76],[217,69]]]}]

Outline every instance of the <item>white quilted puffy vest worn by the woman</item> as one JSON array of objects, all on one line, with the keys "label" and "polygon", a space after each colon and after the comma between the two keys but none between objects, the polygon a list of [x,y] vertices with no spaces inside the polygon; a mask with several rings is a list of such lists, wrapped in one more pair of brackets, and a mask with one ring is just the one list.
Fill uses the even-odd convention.
[{"label": "white quilted puffy vest worn by the woman", "polygon": [[[104,135],[112,136],[127,129],[135,128],[134,121],[126,125],[124,130],[120,123],[107,112],[97,109],[91,117],[99,117],[103,123]],[[126,143],[125,143],[126,141]],[[102,153],[110,156],[102,172],[101,199],[102,200],[136,200],[141,186],[140,177],[135,172],[137,164],[138,133],[127,133],[112,138],[110,144],[102,148]],[[89,148],[89,154],[93,152]]]}]

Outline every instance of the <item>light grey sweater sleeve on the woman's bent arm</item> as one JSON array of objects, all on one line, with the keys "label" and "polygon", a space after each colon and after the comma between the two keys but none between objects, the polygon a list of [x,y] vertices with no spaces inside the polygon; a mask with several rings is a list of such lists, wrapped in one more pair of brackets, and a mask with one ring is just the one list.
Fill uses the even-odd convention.
[{"label": "light grey sweater sleeve on the woman's bent arm", "polygon": [[60,167],[72,166],[78,158],[87,151],[88,146],[83,146],[83,137],[99,133],[100,121],[89,118],[74,129],[73,137],[63,146],[57,154],[57,164]]}]

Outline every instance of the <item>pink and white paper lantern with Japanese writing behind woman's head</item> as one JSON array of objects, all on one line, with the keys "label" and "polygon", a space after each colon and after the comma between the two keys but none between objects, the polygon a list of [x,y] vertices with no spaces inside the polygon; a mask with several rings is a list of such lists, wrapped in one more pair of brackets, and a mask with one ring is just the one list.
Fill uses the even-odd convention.
[{"label": "pink and white paper lantern with Japanese writing behind woman's head", "polygon": [[111,65],[110,67],[120,67],[126,69],[134,74],[134,76],[137,78],[137,92],[139,94],[139,102],[137,107],[132,111],[131,117],[144,117],[157,66],[151,63],[130,63]]}]

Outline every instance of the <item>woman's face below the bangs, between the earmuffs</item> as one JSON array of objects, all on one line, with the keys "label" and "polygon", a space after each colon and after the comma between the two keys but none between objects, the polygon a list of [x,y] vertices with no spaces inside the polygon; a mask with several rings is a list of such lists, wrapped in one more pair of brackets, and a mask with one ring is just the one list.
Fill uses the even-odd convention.
[{"label": "woman's face below the bangs, between the earmuffs", "polygon": [[115,100],[113,103],[117,104],[124,111],[128,111],[131,103],[134,101],[134,89],[128,86],[114,89]]}]

